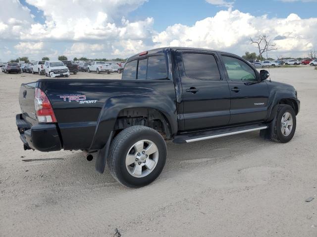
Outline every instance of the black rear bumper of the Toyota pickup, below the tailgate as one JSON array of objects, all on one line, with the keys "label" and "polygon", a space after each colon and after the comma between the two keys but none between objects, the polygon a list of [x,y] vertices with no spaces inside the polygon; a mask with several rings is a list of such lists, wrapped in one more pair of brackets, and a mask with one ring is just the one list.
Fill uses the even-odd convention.
[{"label": "black rear bumper of the Toyota pickup, below the tailgate", "polygon": [[15,121],[25,150],[34,149],[41,152],[52,152],[62,149],[57,127],[54,123],[31,126],[22,118],[21,114],[16,115]]}]

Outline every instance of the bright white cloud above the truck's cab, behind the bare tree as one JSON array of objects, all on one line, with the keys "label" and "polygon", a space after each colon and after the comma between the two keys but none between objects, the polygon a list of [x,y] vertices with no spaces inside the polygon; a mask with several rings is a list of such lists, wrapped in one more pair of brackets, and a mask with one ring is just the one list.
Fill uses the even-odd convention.
[{"label": "bright white cloud above the truck's cab, behind the bare tree", "polygon": [[[301,52],[317,46],[317,18],[301,19],[296,14],[287,18],[256,17],[239,10],[223,10],[213,17],[197,21],[194,26],[175,24],[153,37],[156,46],[202,47],[243,54],[256,51],[250,44],[250,37],[266,34],[274,42],[278,51],[274,54]],[[278,39],[278,38],[277,38]]]}]

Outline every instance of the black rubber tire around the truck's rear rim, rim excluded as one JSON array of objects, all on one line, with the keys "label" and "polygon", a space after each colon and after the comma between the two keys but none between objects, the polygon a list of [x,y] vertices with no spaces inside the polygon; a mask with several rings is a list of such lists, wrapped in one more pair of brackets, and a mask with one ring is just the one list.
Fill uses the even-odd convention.
[{"label": "black rubber tire around the truck's rear rim, rim excluded", "polygon": [[[126,167],[125,159],[129,149],[140,140],[150,140],[157,146],[159,159],[156,166],[144,177],[132,176]],[[127,187],[137,188],[150,184],[161,173],[167,156],[163,137],[154,129],[146,126],[131,126],[122,130],[111,142],[107,164],[114,179]]]}]

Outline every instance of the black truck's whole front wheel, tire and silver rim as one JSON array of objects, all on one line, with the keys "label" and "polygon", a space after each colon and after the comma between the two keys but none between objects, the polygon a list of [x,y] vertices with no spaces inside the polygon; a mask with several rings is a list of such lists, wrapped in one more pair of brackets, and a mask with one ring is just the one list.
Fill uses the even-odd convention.
[{"label": "black truck's whole front wheel, tire and silver rim", "polygon": [[271,140],[280,143],[289,142],[293,138],[296,129],[294,109],[289,105],[279,105],[273,125]]}]

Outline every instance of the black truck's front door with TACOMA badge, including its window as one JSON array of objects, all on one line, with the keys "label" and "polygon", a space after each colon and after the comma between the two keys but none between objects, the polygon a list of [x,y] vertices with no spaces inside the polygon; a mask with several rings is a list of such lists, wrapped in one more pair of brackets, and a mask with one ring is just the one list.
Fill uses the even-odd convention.
[{"label": "black truck's front door with TACOMA badge, including its window", "polygon": [[246,62],[222,55],[231,94],[230,124],[263,121],[267,113],[266,81]]}]

